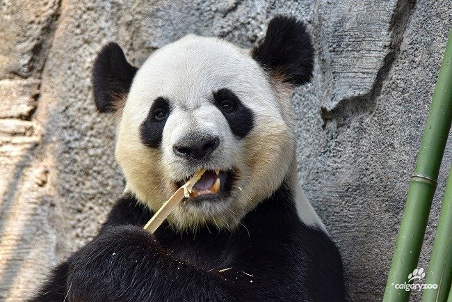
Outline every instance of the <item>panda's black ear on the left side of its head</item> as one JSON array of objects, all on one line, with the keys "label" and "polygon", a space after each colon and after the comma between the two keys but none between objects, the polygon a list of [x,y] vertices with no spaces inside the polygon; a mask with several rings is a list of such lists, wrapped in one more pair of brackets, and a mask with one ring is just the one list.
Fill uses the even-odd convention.
[{"label": "panda's black ear on the left side of its head", "polygon": [[97,55],[92,67],[92,87],[97,109],[113,112],[129,93],[137,68],[127,62],[121,47],[110,42]]}]

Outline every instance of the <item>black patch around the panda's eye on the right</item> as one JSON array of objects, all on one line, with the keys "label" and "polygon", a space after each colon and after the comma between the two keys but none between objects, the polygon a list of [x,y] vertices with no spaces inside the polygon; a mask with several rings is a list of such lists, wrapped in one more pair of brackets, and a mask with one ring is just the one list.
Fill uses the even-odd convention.
[{"label": "black patch around the panda's eye on the right", "polygon": [[244,138],[250,133],[255,119],[252,111],[243,105],[239,97],[231,90],[221,88],[213,93],[213,100],[215,106],[225,116],[234,136]]}]

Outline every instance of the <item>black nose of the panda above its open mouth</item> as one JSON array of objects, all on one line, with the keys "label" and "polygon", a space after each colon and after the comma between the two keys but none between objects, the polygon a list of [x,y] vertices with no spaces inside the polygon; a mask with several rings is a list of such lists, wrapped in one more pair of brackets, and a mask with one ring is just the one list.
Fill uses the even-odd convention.
[{"label": "black nose of the panda above its open mouth", "polygon": [[186,157],[191,159],[203,159],[211,154],[213,150],[220,145],[218,137],[202,138],[195,141],[185,141],[172,147],[172,150],[179,157]]}]

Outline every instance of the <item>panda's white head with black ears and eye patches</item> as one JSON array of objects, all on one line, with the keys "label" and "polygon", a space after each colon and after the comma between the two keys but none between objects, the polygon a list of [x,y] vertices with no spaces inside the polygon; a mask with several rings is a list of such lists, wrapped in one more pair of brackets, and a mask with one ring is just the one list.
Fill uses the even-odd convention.
[{"label": "panda's white head with black ears and eye patches", "polygon": [[[234,228],[296,171],[291,92],[312,75],[305,26],[275,17],[255,49],[187,35],[131,66],[117,44],[93,68],[97,109],[118,113],[115,156],[126,191],[156,211],[184,181],[207,170],[196,198],[168,221]],[[218,186],[219,185],[219,186]]]}]

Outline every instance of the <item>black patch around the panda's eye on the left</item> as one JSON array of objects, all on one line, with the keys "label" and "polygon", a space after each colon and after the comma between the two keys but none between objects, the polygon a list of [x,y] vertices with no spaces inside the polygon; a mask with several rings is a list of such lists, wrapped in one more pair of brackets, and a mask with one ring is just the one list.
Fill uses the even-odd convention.
[{"label": "black patch around the panda's eye on the left", "polygon": [[159,148],[163,135],[163,128],[170,115],[170,104],[164,97],[157,97],[147,114],[146,120],[141,124],[141,141],[151,148]]}]

